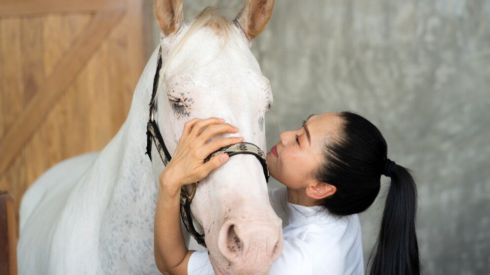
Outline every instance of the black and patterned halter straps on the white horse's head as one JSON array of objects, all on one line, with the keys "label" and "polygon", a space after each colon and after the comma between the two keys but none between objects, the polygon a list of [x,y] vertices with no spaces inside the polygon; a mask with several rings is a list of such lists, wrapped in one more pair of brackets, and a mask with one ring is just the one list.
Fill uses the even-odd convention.
[{"label": "black and patterned halter straps on the white horse's head", "polygon": [[[152,93],[152,99],[150,101],[150,116],[148,118],[147,131],[146,131],[146,136],[147,136],[146,154],[148,154],[150,161],[152,161],[151,140],[153,138],[153,141],[155,142],[155,146],[157,146],[158,153],[160,154],[160,158],[163,161],[163,165],[167,166],[167,164],[170,162],[172,157],[170,156],[170,153],[168,152],[168,149],[165,146],[165,142],[163,142],[162,135],[160,134],[160,130],[157,126],[157,122],[155,121],[155,117],[154,117],[155,107],[156,107],[155,96],[157,94],[157,89],[158,89],[160,69],[162,69],[162,47],[160,47],[160,50],[158,51],[157,71],[155,72],[155,77],[153,78],[153,93]],[[260,150],[260,148],[257,147],[256,145],[248,142],[242,142],[242,143],[237,143],[226,147],[222,147],[216,150],[215,152],[211,153],[206,159],[204,159],[204,163],[207,162],[212,157],[219,154],[228,154],[230,157],[238,154],[254,155],[255,157],[257,157],[260,164],[262,165],[262,168],[264,169],[265,180],[267,182],[269,181],[269,170],[267,169],[267,162],[266,162],[264,152],[262,152],[262,150]],[[191,216],[192,214],[191,202],[192,199],[194,198],[194,195],[196,195],[197,184],[198,182],[192,184],[191,194],[188,194],[183,188],[180,190],[180,217],[182,218],[182,222],[184,223],[187,232],[189,232],[189,234],[192,237],[194,237],[194,239],[196,239],[196,241],[199,244],[206,247],[206,243],[204,241],[204,233],[200,234],[196,231]]]}]

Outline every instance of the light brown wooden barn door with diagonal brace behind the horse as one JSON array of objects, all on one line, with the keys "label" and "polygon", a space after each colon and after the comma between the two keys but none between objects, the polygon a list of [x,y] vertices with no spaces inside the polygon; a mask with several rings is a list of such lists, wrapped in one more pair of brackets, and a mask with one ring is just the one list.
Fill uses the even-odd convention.
[{"label": "light brown wooden barn door with diagonal brace behind the horse", "polygon": [[[101,150],[151,55],[149,0],[0,0],[0,190]],[[147,34],[147,35],[145,35]]]}]

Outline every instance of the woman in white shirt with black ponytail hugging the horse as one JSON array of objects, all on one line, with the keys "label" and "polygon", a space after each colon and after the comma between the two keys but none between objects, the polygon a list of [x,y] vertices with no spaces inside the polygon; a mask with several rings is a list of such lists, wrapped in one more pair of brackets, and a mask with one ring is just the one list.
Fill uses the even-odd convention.
[{"label": "woman in white shirt with black ponytail hugging the horse", "polygon": [[[219,126],[199,134],[212,124]],[[155,260],[160,271],[203,274],[207,272],[203,263],[210,268],[207,253],[189,251],[185,245],[178,209],[180,188],[228,160],[222,154],[203,163],[217,142],[225,146],[243,141],[224,138],[206,145],[204,137],[237,132],[217,118],[186,124],[172,160],[160,175],[155,216]],[[192,142],[203,144],[210,152],[194,157],[188,150]],[[286,225],[284,250],[271,274],[298,274],[294,272],[298,267],[301,274],[364,274],[357,213],[376,198],[381,175],[390,176],[391,184],[369,259],[370,274],[420,274],[415,182],[407,169],[386,154],[386,141],[379,130],[350,112],[312,115],[301,128],[281,134],[281,141],[267,154],[270,174],[286,185],[271,192],[273,205],[286,213],[281,216]],[[281,214],[281,209],[277,212]]]}]

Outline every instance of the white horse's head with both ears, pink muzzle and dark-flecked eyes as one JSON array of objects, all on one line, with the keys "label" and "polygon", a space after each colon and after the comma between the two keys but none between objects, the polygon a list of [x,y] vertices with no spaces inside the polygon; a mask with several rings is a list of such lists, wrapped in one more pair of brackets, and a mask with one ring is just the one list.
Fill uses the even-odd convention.
[{"label": "white horse's head with both ears, pink muzzle and dark-flecked eyes", "polygon": [[[272,14],[274,0],[248,0],[233,22],[206,8],[187,21],[182,0],[155,0],[163,66],[157,122],[175,150],[186,121],[220,117],[237,136],[266,150],[264,115],[272,102],[269,80],[250,52]],[[281,221],[254,156],[232,157],[198,184],[191,204],[217,273],[264,274],[282,251]]]}]

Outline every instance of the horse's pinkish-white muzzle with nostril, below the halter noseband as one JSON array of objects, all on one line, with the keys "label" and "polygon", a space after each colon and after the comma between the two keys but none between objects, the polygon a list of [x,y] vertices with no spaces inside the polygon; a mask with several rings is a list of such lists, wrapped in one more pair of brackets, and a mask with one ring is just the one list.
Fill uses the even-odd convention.
[{"label": "horse's pinkish-white muzzle with nostril, below the halter noseband", "polygon": [[254,156],[233,156],[198,187],[191,208],[217,274],[266,274],[282,252],[282,221],[261,170]]}]

